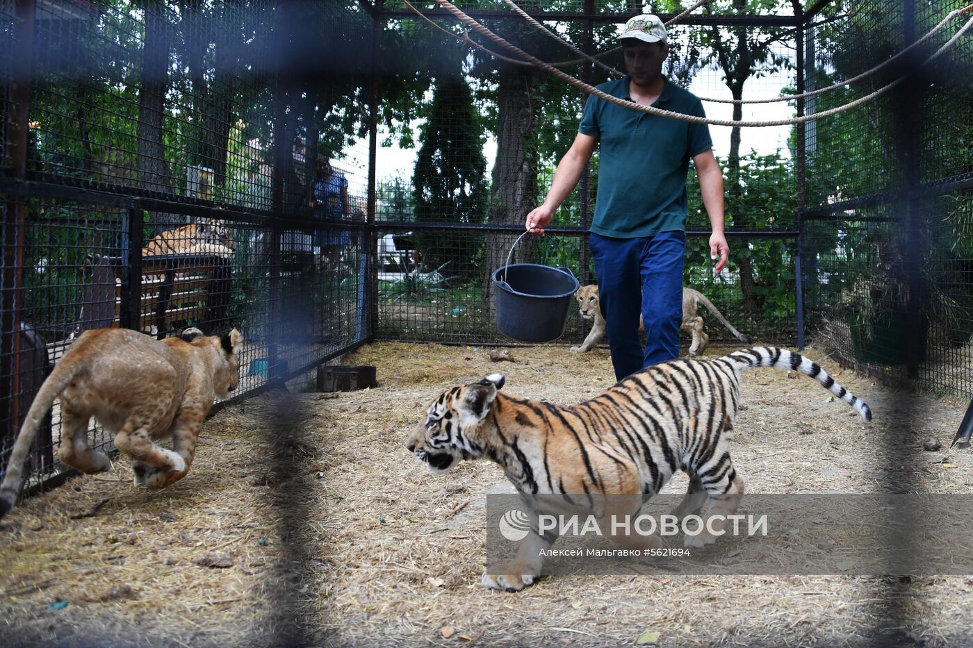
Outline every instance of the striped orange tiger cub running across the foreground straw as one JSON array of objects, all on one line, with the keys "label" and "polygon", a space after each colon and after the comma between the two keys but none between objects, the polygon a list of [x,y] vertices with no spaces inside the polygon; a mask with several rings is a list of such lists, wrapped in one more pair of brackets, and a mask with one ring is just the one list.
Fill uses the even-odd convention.
[{"label": "striped orange tiger cub running across the foreground straw", "polygon": [[[463,459],[490,459],[503,467],[525,502],[534,494],[567,493],[580,495],[573,499],[584,506],[592,501],[589,493],[631,495],[614,497],[614,505],[595,506],[588,513],[597,518],[604,535],[641,550],[659,548],[662,542],[658,536],[622,535],[608,521],[636,515],[643,493],[658,493],[676,470],[683,470],[690,486],[673,513],[682,519],[703,512],[705,530],[684,538],[686,546],[703,547],[723,532],[725,517],[736,512],[743,495],[743,482],[730,459],[730,440],[740,373],[755,367],[797,370],[817,378],[865,420],[872,419],[864,401],[808,358],[756,347],[714,360],[654,365],[573,407],[501,393],[504,377],[491,374],[440,394],[415,427],[408,449],[434,472],[445,472]],[[539,513],[534,510],[534,523],[517,558],[503,573],[485,574],[485,587],[518,591],[533,583],[544,563],[542,552],[557,540],[550,532],[538,534]]]}]

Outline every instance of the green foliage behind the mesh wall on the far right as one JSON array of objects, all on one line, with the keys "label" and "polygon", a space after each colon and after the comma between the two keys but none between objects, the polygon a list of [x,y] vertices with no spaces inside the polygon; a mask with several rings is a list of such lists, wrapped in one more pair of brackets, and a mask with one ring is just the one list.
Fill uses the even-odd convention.
[{"label": "green foliage behind the mesh wall on the far right", "polygon": [[[955,1],[917,5],[913,37],[919,38],[961,6]],[[908,44],[906,17],[900,13],[876,20],[870,12],[847,11],[839,4],[829,7],[823,16],[822,24],[813,31],[820,54],[814,69],[818,88],[844,82],[875,67]],[[842,19],[828,20],[836,17]],[[902,58],[851,87],[817,98],[814,111],[821,112],[878,90],[904,73],[915,72],[899,90],[817,123],[807,158],[809,204],[881,198],[903,190],[910,182],[935,186],[973,170],[973,126],[970,120],[958,118],[970,109],[973,74],[968,61],[973,49],[969,40],[960,39],[931,65],[913,67],[945,44],[961,23],[962,18],[958,18],[933,36],[911,60]],[[909,106],[912,109],[906,109]],[[915,169],[909,164],[910,128],[917,142]],[[853,303],[870,291],[886,294],[887,286],[915,280],[923,289],[918,303],[911,306],[923,311],[933,339],[966,343],[973,334],[973,289],[968,279],[973,271],[969,236],[973,211],[968,198],[963,192],[912,202],[901,196],[884,198],[875,205],[847,210],[840,214],[844,218],[828,229],[818,228],[809,251],[822,267],[842,270],[821,287],[820,300]],[[864,220],[866,216],[891,222],[869,222]],[[918,230],[909,225],[912,218],[920,219]],[[902,260],[915,255],[921,260],[920,277],[884,270],[880,260],[889,255]],[[811,286],[816,288],[817,284]]]}]

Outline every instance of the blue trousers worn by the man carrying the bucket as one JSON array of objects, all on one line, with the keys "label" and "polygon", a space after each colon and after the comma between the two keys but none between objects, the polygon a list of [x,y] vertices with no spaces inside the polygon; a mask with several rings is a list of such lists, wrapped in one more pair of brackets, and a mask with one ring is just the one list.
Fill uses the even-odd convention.
[{"label": "blue trousers worn by the man carrying the bucket", "polygon": [[[592,233],[589,245],[615,378],[678,358],[686,234],[611,238]],[[645,322],[644,350],[639,313]]]}]

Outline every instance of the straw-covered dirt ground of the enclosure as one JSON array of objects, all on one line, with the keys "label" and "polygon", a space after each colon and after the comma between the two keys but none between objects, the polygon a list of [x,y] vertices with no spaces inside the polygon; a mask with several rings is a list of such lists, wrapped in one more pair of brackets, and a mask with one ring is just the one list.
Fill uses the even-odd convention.
[{"label": "straw-covered dirt ground of the enclosure", "polygon": [[[565,405],[613,381],[605,349],[510,350],[515,362],[493,363],[486,348],[372,344],[343,363],[376,365],[378,388],[274,391],[225,410],[175,486],[135,489],[118,458],[27,499],[0,524],[3,643],[973,642],[973,577],[555,576],[519,594],[486,591],[484,494],[502,473],[479,462],[435,476],[405,450],[409,431],[466,378],[500,371],[506,391]],[[875,421],[809,378],[747,373],[732,451],[748,492],[879,492],[906,476],[919,490],[973,490],[973,451],[947,450],[965,403],[893,392],[808,355]],[[923,451],[929,436],[943,450]]]}]

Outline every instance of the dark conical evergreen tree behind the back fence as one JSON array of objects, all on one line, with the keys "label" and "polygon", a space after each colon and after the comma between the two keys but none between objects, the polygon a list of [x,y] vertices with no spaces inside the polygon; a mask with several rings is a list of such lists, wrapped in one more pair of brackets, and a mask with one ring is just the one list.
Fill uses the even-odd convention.
[{"label": "dark conical evergreen tree behind the back fence", "polygon": [[[483,223],[486,211],[484,132],[466,81],[437,79],[413,175],[415,218],[431,223]],[[449,265],[447,275],[474,276],[474,237],[423,234],[416,245],[426,268]]]}]

